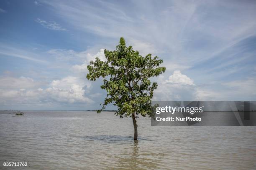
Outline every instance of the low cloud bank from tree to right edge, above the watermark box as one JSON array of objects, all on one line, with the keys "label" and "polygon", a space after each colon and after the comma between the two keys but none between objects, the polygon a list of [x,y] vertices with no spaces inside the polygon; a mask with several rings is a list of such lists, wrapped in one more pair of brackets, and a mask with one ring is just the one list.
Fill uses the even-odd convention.
[{"label": "low cloud bank from tree to right edge, above the watermark box", "polygon": [[191,78],[174,71],[166,80],[160,75],[153,100],[253,100],[256,78],[195,85]]}]

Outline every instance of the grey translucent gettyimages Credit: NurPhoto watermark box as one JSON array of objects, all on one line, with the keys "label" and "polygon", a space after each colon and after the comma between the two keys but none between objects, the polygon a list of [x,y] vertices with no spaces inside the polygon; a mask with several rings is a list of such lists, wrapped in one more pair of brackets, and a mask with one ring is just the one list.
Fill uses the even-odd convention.
[{"label": "grey translucent gettyimages Credit: NurPhoto watermark box", "polygon": [[152,126],[256,125],[256,101],[153,101]]}]

